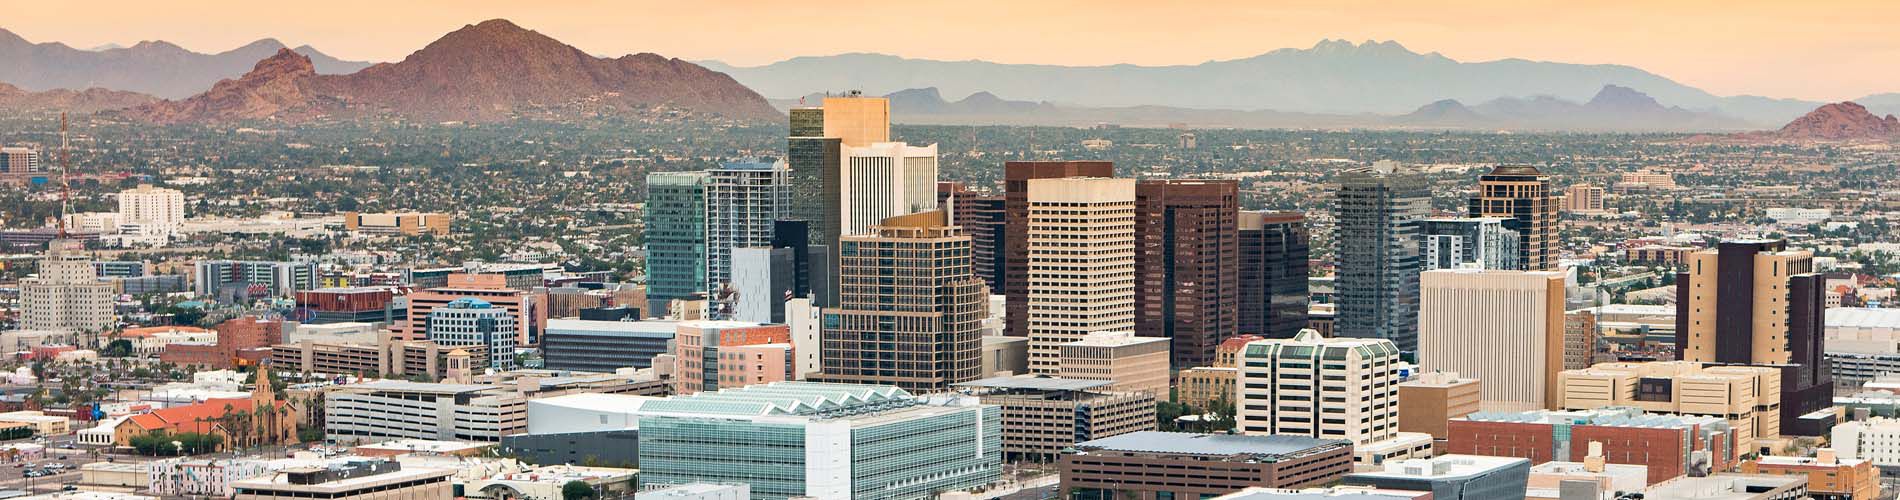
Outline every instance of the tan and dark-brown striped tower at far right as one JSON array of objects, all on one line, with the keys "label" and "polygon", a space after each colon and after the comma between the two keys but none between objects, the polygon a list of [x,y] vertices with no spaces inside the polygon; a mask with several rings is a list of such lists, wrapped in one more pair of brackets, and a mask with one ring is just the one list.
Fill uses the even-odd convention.
[{"label": "tan and dark-brown striped tower at far right", "polygon": [[1824,359],[1826,278],[1786,240],[1735,240],[1689,255],[1676,274],[1676,356],[1702,363],[1786,365],[1782,422],[1832,403]]}]

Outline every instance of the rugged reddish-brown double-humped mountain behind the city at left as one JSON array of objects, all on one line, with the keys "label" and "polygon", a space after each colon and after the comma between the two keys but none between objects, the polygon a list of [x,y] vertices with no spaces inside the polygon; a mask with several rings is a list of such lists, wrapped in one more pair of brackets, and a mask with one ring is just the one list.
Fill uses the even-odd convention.
[{"label": "rugged reddish-brown double-humped mountain behind the city at left", "polygon": [[205,93],[120,114],[156,124],[294,124],[331,116],[492,122],[621,112],[783,120],[726,74],[654,53],[600,59],[504,19],[462,27],[399,63],[352,74],[319,74],[312,57],[279,49]]}]

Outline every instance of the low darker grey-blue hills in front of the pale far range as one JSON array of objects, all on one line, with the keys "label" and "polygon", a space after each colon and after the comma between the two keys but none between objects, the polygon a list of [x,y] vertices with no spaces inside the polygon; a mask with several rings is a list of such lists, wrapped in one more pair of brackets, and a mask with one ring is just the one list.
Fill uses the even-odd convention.
[{"label": "low darker grey-blue hills in front of the pale far range", "polygon": [[[1492,99],[1476,106],[1444,99],[1408,114],[1319,114],[1277,110],[1205,110],[1180,106],[1072,106],[1005,101],[978,91],[946,101],[937,87],[902,89],[891,99],[891,118],[901,124],[935,125],[1094,125],[1136,127],[1368,127],[1368,129],[1510,129],[1510,131],[1744,131],[1759,129],[1742,120],[1662,106],[1630,87],[1604,86],[1586,103],[1556,97]],[[825,95],[806,95],[819,105]],[[794,101],[777,101],[792,106]]]}]

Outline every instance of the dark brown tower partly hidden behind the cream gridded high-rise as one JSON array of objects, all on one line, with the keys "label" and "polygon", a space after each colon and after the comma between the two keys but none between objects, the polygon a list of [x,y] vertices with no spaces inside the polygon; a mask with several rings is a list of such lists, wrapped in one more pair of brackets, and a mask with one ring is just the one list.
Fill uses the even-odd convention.
[{"label": "dark brown tower partly hidden behind the cream gridded high-rise", "polygon": [[[1003,333],[1030,337],[1030,181],[1062,177],[1115,177],[1112,162],[1009,162],[1003,163],[1003,253],[998,266],[1003,272],[1005,295]],[[1130,192],[1132,202],[1132,192]]]}]

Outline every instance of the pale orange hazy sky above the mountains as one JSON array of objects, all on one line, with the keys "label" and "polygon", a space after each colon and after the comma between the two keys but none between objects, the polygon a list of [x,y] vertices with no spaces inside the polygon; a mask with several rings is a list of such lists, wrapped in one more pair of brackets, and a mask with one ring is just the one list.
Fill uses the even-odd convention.
[{"label": "pale orange hazy sky above the mountains", "polygon": [[505,17],[591,53],[762,65],[880,51],[1049,65],[1193,65],[1320,38],[1398,40],[1459,61],[1634,65],[1718,95],[1854,99],[1900,91],[1892,0],[0,0],[0,27],[76,48],[169,40],[222,51],[256,38],[395,61]]}]

